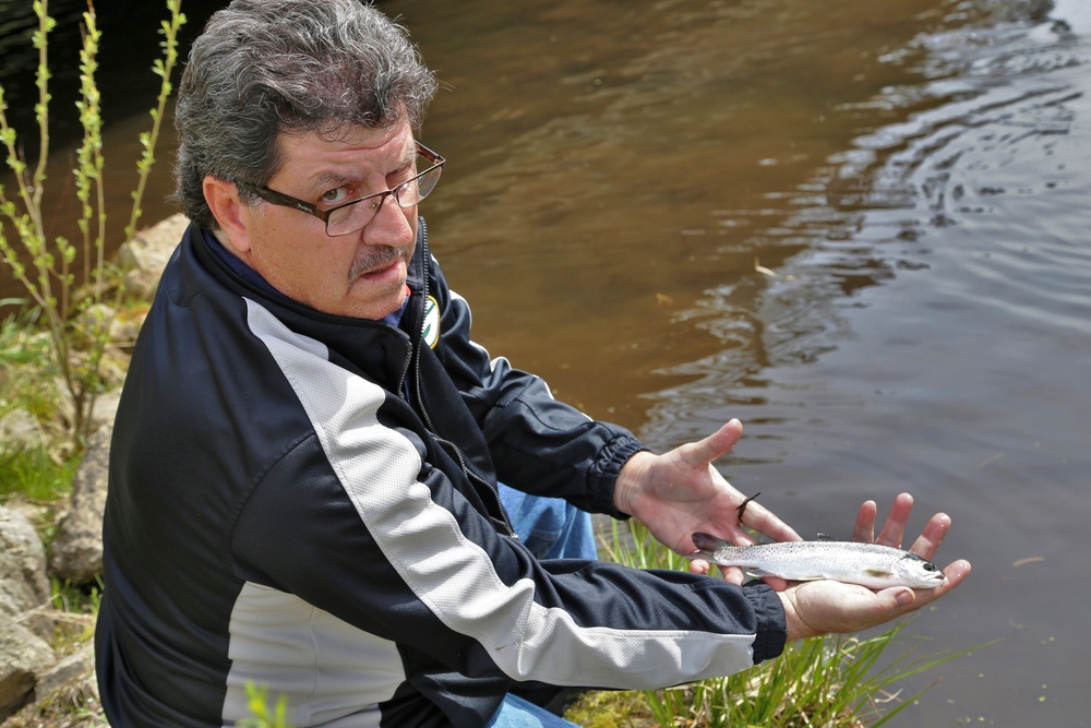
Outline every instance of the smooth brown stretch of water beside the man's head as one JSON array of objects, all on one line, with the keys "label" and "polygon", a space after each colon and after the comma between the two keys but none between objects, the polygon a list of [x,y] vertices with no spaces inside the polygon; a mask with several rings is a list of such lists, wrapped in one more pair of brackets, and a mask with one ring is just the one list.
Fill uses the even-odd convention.
[{"label": "smooth brown stretch of water beside the man's head", "polygon": [[783,225],[791,198],[861,121],[832,111],[897,82],[882,56],[940,20],[851,4],[392,3],[453,88],[425,126],[453,159],[425,213],[480,335],[637,426],[632,393],[722,350],[702,322],[762,326],[724,323],[708,297],[730,286],[745,306],[756,256],[776,267],[808,244]]}]

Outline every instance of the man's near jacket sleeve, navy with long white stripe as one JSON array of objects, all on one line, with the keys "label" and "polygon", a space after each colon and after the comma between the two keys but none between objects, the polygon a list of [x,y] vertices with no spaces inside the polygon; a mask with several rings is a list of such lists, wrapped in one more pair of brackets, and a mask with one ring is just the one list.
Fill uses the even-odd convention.
[{"label": "man's near jacket sleeve, navy with long white stripe", "polygon": [[[535,559],[468,500],[443,449],[404,425],[405,401],[254,317],[313,432],[248,479],[231,558],[239,578],[265,589],[247,589],[251,600],[280,599],[267,589],[301,600],[288,604],[281,641],[292,655],[381,656],[399,673],[392,680],[405,671],[427,682],[446,669],[502,683],[640,689],[743,670],[783,647],[783,609],[765,585]],[[248,654],[262,658],[281,634],[268,621],[283,617],[240,604],[232,629],[248,630]],[[351,641],[360,649],[347,649]],[[268,664],[252,661],[255,673]],[[376,665],[361,675],[374,678]]]}]

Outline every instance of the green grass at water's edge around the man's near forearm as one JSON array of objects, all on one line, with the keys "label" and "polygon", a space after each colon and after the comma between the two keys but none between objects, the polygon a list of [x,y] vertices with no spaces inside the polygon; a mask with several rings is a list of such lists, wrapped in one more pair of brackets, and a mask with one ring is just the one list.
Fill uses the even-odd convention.
[{"label": "green grass at water's edge around the man's near forearm", "polygon": [[[630,566],[685,568],[632,522],[614,524],[604,551]],[[565,717],[585,728],[875,728],[927,691],[899,685],[972,652],[918,656],[926,641],[904,635],[909,623],[867,637],[802,640],[745,672],[668,690],[587,693]]]}]

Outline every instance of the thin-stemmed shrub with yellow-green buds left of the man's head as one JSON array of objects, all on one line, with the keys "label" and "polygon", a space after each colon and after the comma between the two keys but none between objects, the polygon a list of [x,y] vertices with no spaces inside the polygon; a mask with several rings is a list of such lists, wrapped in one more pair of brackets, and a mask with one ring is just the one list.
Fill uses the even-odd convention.
[{"label": "thin-stemmed shrub with yellow-green buds left of the man's head", "polygon": [[[178,60],[178,33],[185,23],[181,0],[167,0],[169,19],[163,21],[159,32],[163,58],[157,59],[153,71],[161,84],[155,108],[152,109],[152,128],[140,136],[143,155],[137,162],[137,182],[133,190],[133,206],[124,235],[131,236],[141,217],[141,199],[147,176],[155,163],[155,146],[159,138],[167,99],[172,86],[170,74]],[[97,55],[101,35],[95,22],[94,5],[83,14],[83,47],[80,51],[81,98],[76,102],[83,139],[76,153],[75,194],[80,212],[76,220],[82,240],[73,243],[63,237],[50,240],[46,232],[43,199],[46,189],[46,162],[49,156],[49,58],[48,37],[56,21],[49,15],[48,0],[35,0],[34,12],[38,27],[34,33],[34,47],[38,50],[35,118],[38,132],[38,153],[28,163],[19,144],[14,129],[8,122],[8,105],[3,86],[0,86],[0,148],[7,152],[7,164],[15,179],[15,190],[9,193],[0,186],[0,220],[5,220],[14,231],[9,240],[5,226],[0,224],[0,255],[14,278],[25,288],[26,300],[33,311],[32,319],[48,333],[49,365],[62,383],[63,396],[70,402],[67,422],[72,443],[79,445],[86,439],[91,427],[91,413],[95,398],[105,389],[103,377],[104,355],[110,344],[109,329],[115,306],[103,306],[109,294],[120,296],[120,287],[110,286],[106,262],[106,210],[103,193],[103,115],[100,96],[95,82],[98,68]],[[77,278],[74,263],[82,253],[83,271]],[[80,286],[77,286],[77,281]],[[111,290],[112,288],[112,290]]]}]

